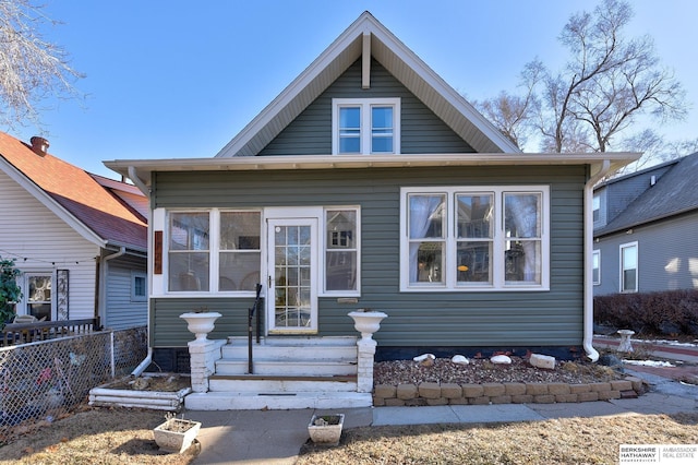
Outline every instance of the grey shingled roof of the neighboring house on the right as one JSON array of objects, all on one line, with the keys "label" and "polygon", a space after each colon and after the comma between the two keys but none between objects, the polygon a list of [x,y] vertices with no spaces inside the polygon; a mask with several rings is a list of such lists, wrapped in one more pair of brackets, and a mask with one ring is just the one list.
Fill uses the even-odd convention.
[{"label": "grey shingled roof of the neighboring house on the right", "polygon": [[[633,175],[624,177],[631,178]],[[673,166],[657,183],[635,199],[605,227],[594,231],[602,236],[641,224],[698,211],[698,152],[673,160]]]}]

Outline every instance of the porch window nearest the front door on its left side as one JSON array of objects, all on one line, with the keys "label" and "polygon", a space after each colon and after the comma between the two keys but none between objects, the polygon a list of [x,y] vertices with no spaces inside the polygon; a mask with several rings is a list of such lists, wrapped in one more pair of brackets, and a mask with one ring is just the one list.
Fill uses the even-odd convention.
[{"label": "porch window nearest the front door on its left side", "polygon": [[220,212],[218,290],[255,290],[262,250],[260,212]]}]

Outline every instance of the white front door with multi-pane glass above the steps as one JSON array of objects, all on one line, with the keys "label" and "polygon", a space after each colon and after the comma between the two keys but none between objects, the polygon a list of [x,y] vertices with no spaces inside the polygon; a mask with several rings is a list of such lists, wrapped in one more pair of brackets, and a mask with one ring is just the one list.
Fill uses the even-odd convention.
[{"label": "white front door with multi-pane glass above the steps", "polygon": [[269,334],[317,332],[317,218],[267,218]]}]

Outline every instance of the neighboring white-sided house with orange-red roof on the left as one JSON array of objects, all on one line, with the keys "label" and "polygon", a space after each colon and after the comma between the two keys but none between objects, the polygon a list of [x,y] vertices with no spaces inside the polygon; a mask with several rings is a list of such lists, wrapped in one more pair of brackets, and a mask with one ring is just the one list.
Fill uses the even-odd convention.
[{"label": "neighboring white-sided house with orange-red roof on the left", "polygon": [[147,324],[147,199],[0,132],[0,257],[22,272],[17,314]]}]

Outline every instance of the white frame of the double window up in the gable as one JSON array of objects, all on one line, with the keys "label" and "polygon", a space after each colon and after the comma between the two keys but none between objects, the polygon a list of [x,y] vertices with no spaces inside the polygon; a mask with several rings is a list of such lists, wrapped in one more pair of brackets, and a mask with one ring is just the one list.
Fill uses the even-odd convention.
[{"label": "white frame of the double window up in the gable", "polygon": [[[333,155],[368,155],[371,151],[371,108],[374,106],[393,107],[393,152],[380,152],[380,154],[400,153],[400,98],[333,98],[332,99],[332,153]],[[342,107],[359,107],[361,110],[360,145],[358,154],[341,154],[339,152],[339,109]]]}]

